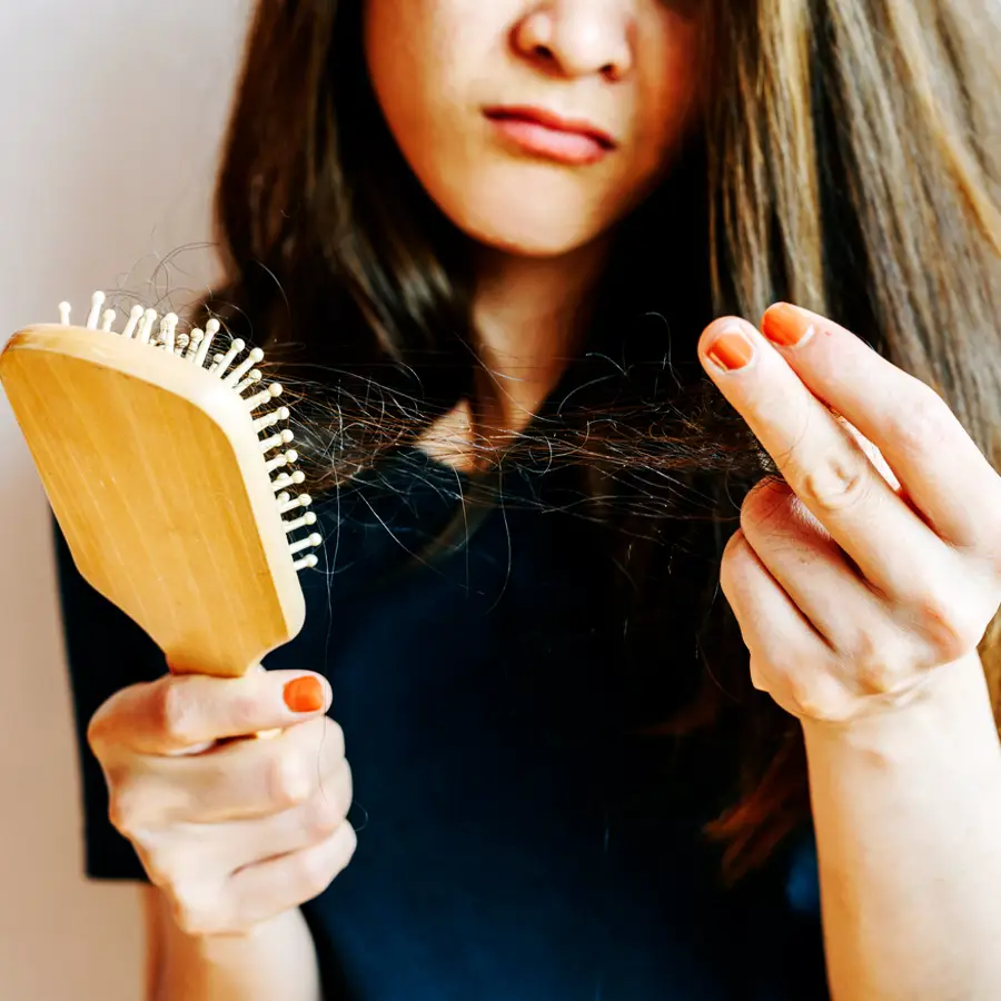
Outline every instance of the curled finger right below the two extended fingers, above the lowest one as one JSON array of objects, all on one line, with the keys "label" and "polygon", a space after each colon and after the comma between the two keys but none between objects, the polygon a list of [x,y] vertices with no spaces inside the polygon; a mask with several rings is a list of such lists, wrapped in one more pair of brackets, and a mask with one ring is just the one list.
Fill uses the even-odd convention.
[{"label": "curled finger right below the two extended fingers, above the lowest one", "polygon": [[741,531],[762,565],[832,647],[831,663],[850,688],[888,693],[911,681],[916,640],[894,625],[893,609],[865,584],[785,484],[772,480],[747,495]]}]

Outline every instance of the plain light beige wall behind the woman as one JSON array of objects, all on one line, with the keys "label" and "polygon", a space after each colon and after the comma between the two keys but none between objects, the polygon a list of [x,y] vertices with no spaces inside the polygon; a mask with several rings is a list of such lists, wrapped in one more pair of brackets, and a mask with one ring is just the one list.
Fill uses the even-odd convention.
[{"label": "plain light beige wall behind the woman", "polygon": [[[0,344],[210,236],[250,0],[0,0]],[[158,291],[211,275],[191,249]],[[0,999],[139,1001],[137,891],[81,876],[48,508],[0,394]]]}]

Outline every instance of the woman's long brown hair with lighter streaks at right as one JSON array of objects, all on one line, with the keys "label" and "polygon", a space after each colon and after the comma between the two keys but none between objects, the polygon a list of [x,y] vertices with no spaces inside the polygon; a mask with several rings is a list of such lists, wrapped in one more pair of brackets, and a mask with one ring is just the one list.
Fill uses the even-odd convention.
[{"label": "woman's long brown hair with lighter streaks at right", "polygon": [[[713,315],[754,321],[779,299],[830,315],[938,389],[999,465],[1001,11],[987,0],[706,3],[704,120],[621,227],[588,360],[507,457],[562,458],[601,497],[592,513],[623,546],[617,607],[646,636],[635,650],[664,634],[665,608],[678,624],[705,611],[702,695],[660,729],[739,732],[733,802],[710,825],[739,873],[806,815],[805,762],[799,724],[751,688],[715,593],[740,500],[774,467],[708,392],[694,343]],[[277,349],[285,380],[314,373],[304,423],[329,485],[475,395],[479,364],[466,240],[383,121],[360,8],[258,3],[217,195],[227,280],[206,303]],[[608,366],[598,377],[596,364]],[[708,511],[692,503],[706,497]],[[715,554],[687,565],[690,605],[663,572],[662,538],[685,518],[701,518],[693,531]],[[981,652],[1001,712],[998,625]]]}]

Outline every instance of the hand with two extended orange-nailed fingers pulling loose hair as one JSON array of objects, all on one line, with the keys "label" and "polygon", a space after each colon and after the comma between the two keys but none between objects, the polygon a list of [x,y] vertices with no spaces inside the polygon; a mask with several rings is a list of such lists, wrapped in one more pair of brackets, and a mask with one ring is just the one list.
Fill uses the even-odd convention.
[{"label": "hand with two extended orange-nailed fingers pulling loose hair", "polygon": [[698,345],[783,477],[744,500],[721,584],[755,687],[849,723],[978,657],[1001,603],[1001,477],[931,387],[843,327],[780,303],[762,330],[725,317]]}]

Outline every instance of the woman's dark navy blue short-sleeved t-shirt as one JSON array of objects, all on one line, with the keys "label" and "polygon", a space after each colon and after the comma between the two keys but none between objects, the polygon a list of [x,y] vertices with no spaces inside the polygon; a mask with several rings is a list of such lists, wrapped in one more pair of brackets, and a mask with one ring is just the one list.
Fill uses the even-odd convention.
[{"label": "woman's dark navy blue short-sleeved t-shirt", "polygon": [[[543,503],[551,482],[512,474],[464,508],[470,482],[410,449],[316,507],[306,626],[265,664],[329,678],[354,774],[357,852],[304,906],[326,995],[826,998],[809,832],[724,886],[701,829],[726,791],[702,755],[620,725],[622,624],[597,586],[609,567],[593,523]],[[464,545],[448,542],[456,524]],[[57,542],[87,871],[142,879],[83,734],[163,657]]]}]

